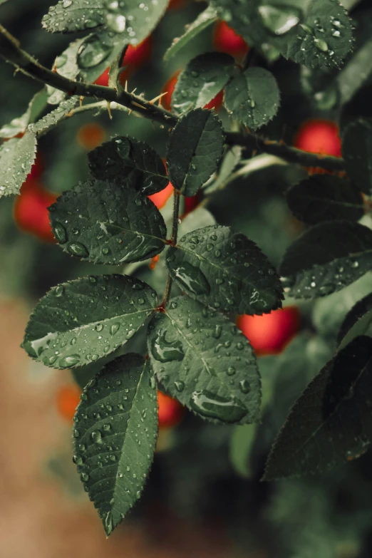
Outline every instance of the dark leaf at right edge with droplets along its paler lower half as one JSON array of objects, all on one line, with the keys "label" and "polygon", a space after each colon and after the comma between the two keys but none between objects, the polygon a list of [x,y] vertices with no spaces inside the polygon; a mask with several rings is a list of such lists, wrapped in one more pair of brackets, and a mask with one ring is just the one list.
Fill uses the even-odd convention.
[{"label": "dark leaf at right edge with droplets along its paler lower half", "polygon": [[284,254],[279,273],[289,295],[314,299],[350,285],[372,266],[372,231],[347,221],[326,222],[304,232]]}]

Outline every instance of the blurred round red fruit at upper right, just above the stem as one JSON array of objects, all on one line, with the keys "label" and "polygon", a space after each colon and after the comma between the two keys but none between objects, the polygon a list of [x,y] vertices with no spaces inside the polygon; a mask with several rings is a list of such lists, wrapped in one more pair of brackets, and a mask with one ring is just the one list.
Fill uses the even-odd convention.
[{"label": "blurred round red fruit at upper right, just above the stem", "polygon": [[296,133],[294,147],[310,153],[341,157],[339,126],[331,120],[307,120]]}]

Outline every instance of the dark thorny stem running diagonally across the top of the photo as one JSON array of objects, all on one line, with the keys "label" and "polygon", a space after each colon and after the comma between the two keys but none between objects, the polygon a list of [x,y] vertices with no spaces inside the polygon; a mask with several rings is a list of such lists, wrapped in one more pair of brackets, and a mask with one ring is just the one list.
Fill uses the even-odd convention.
[{"label": "dark thorny stem running diagonally across the top of the photo", "polygon": [[[95,84],[73,81],[60,76],[56,71],[48,70],[35,60],[29,53],[22,50],[19,41],[0,24],[0,57],[12,63],[16,71],[21,71],[33,79],[41,81],[44,85],[65,91],[68,95],[81,95],[82,97],[95,97],[117,103],[128,108],[130,111],[149,118],[167,127],[174,127],[178,117],[160,105],[145,100],[142,96],[133,95],[120,88],[118,91],[113,87],[96,86]],[[92,103],[95,105],[95,103]],[[90,106],[90,105],[88,105]],[[93,108],[93,106],[92,106]],[[113,108],[113,107],[111,107]],[[118,107],[116,107],[118,108]],[[78,112],[78,111],[76,111]],[[227,132],[225,134],[228,145],[242,145],[242,147],[257,150],[260,153],[268,153],[280,157],[286,162],[293,162],[304,167],[319,167],[324,170],[339,172],[344,170],[343,159],[306,153],[289,145],[277,141],[267,141],[253,133]]]}]

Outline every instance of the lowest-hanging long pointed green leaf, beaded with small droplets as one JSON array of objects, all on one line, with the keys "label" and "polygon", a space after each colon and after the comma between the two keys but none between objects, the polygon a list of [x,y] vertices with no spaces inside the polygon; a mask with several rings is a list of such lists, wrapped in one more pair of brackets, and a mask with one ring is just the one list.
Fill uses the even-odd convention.
[{"label": "lowest-hanging long pointed green leaf, beaded with small droplets", "polygon": [[74,462],[108,535],[140,497],[157,438],[150,362],[130,353],[103,368],[74,417]]}]

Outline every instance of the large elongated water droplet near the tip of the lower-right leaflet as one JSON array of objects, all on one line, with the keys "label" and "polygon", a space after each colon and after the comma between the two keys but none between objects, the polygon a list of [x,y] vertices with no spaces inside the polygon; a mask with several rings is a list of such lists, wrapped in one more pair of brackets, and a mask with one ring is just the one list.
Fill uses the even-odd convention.
[{"label": "large elongated water droplet near the tip of the lower-right leaflet", "polygon": [[223,398],[207,390],[194,391],[190,406],[200,415],[217,418],[224,423],[237,423],[247,415],[247,410],[236,398]]}]

